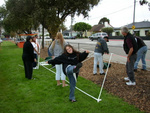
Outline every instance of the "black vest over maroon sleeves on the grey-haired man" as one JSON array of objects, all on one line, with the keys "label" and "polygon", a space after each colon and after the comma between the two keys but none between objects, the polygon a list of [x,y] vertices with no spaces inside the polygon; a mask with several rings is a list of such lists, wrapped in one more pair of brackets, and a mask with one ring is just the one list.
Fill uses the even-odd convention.
[{"label": "black vest over maroon sleeves on the grey-haired man", "polygon": [[132,54],[136,54],[138,51],[138,45],[135,40],[135,37],[133,35],[131,35],[130,33],[128,33],[126,36],[124,36],[123,49],[124,49],[125,53],[128,54],[129,50],[130,50],[127,40],[130,40],[133,45],[133,53]]}]

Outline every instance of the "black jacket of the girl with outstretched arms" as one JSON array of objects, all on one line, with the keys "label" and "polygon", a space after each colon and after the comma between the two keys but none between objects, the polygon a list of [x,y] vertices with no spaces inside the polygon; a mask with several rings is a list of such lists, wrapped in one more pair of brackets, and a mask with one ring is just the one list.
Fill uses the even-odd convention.
[{"label": "black jacket of the girl with outstretched arms", "polygon": [[48,63],[55,65],[55,64],[63,64],[63,72],[66,74],[66,67],[68,65],[77,65],[79,62],[82,62],[83,60],[86,59],[86,57],[88,56],[88,53],[83,52],[83,53],[79,53],[79,58],[77,58],[76,53],[72,53],[72,54],[62,54],[58,57],[56,57],[53,60],[49,60]]}]

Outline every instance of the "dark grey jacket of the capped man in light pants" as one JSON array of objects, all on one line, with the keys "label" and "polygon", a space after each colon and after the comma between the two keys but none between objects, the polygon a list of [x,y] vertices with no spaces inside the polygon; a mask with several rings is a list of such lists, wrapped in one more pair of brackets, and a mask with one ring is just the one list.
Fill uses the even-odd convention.
[{"label": "dark grey jacket of the capped man in light pants", "polygon": [[98,39],[94,52],[102,54],[104,54],[104,52],[109,53],[107,43],[104,39]]}]

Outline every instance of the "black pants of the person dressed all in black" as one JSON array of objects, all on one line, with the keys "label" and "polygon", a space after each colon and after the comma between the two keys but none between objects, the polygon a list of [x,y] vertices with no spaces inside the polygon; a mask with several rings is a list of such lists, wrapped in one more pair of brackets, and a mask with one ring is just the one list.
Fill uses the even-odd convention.
[{"label": "black pants of the person dressed all in black", "polygon": [[25,77],[31,79],[32,72],[33,72],[33,62],[28,60],[23,60],[23,63],[24,63]]}]

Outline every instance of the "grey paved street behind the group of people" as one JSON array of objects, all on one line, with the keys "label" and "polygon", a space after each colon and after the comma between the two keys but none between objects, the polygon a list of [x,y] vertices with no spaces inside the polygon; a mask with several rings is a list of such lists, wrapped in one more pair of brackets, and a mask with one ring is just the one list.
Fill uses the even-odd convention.
[{"label": "grey paved street behind the group of people", "polygon": [[[45,44],[48,43],[49,39],[45,40]],[[78,50],[90,50],[90,51],[94,51],[95,48],[95,44],[96,44],[96,40],[91,41],[89,39],[66,39],[66,41],[70,44],[72,44],[76,49]],[[147,62],[147,67],[150,69],[150,41],[144,41],[146,43],[146,45],[148,46],[148,51],[147,51],[147,55],[146,55],[146,62]],[[113,53],[112,56],[112,61],[113,62],[119,62],[119,63],[123,63],[125,64],[126,62],[126,54],[123,51],[122,45],[123,45],[123,40],[109,40],[109,42],[107,43],[108,47],[109,47],[109,51],[110,53]],[[110,58],[110,54],[109,55],[104,55],[103,59],[104,60],[109,60]],[[139,62],[139,66],[141,66],[142,63],[141,61]]]}]

